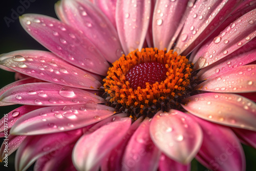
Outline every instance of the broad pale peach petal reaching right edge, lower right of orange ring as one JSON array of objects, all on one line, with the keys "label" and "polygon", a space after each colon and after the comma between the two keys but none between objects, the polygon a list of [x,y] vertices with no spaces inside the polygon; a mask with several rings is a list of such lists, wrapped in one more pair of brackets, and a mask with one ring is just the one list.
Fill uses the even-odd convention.
[{"label": "broad pale peach petal reaching right edge, lower right of orange ring", "polygon": [[210,122],[256,131],[256,104],[236,94],[204,93],[183,100],[183,108]]}]

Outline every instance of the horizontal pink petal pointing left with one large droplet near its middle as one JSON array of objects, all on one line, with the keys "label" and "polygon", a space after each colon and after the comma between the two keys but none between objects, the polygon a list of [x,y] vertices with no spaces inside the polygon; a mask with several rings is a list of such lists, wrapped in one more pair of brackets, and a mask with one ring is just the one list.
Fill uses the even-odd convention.
[{"label": "horizontal pink petal pointing left with one large droplet near its middle", "polygon": [[87,91],[63,87],[54,83],[28,83],[6,91],[0,100],[28,105],[74,105],[77,103],[101,103],[101,97]]}]

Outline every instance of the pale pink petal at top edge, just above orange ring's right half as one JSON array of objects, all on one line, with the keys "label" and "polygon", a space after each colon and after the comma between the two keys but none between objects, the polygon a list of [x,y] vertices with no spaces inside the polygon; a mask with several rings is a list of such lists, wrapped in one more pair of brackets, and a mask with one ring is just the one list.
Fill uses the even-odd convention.
[{"label": "pale pink petal at top edge, just above orange ring's right half", "polygon": [[188,0],[157,1],[153,16],[154,47],[168,48],[186,10]]}]

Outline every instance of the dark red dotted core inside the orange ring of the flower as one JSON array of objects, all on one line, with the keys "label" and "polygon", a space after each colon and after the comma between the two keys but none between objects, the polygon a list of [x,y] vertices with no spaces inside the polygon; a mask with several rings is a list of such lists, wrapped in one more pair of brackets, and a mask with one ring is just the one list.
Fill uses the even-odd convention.
[{"label": "dark red dotted core inside the orange ring of the flower", "polygon": [[164,81],[167,71],[168,70],[163,63],[140,63],[139,65],[131,68],[125,75],[125,78],[130,82],[130,86],[134,90],[136,90],[137,87],[145,89],[146,82],[154,84],[155,82],[160,83],[161,81]]}]

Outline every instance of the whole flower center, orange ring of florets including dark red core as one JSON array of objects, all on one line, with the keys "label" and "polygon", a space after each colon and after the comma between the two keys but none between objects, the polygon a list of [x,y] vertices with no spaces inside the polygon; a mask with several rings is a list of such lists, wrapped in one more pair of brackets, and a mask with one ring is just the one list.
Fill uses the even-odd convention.
[{"label": "whole flower center, orange ring of florets including dark red core", "polygon": [[177,105],[176,99],[186,92],[192,71],[186,56],[157,48],[123,54],[112,65],[103,79],[106,100],[136,118],[152,117]]}]

